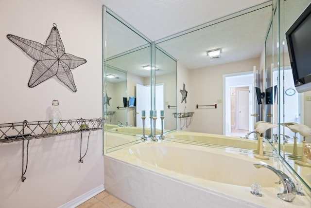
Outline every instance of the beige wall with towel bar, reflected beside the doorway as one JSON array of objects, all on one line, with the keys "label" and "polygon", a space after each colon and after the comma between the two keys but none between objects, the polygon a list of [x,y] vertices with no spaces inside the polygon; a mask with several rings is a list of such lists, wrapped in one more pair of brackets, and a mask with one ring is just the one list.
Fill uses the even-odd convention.
[{"label": "beige wall with towel bar, reflected beside the doorway", "polygon": [[[253,71],[253,66],[259,68],[259,65],[260,58],[252,58],[190,70],[189,86],[191,86],[191,90],[188,91],[187,109],[188,112],[194,112],[191,131],[223,134],[223,103],[217,103],[217,99],[223,99],[223,75]],[[182,80],[178,81],[181,82]],[[213,107],[196,109],[197,104],[217,104],[217,109]]]}]

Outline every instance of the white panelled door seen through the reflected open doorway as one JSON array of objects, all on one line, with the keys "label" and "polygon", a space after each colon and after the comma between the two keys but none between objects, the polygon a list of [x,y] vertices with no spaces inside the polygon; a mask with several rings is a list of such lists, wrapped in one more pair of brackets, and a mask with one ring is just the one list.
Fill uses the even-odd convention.
[{"label": "white panelled door seen through the reflected open doorway", "polygon": [[249,90],[238,91],[238,119],[239,130],[248,130],[249,127]]}]

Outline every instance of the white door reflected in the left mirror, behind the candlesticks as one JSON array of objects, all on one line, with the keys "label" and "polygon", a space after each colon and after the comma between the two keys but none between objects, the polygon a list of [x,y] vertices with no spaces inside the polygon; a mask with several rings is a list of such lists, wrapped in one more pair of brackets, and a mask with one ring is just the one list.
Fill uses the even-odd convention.
[{"label": "white door reflected in the left mirror, behind the candlesticks", "polygon": [[150,128],[150,86],[136,84],[136,126],[142,128],[141,111],[146,112],[145,128]]}]

